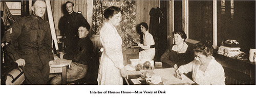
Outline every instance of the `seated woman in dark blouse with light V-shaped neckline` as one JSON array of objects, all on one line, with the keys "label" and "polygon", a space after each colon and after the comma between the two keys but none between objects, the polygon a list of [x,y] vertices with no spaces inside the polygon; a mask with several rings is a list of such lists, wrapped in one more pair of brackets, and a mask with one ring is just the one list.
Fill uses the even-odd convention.
[{"label": "seated woman in dark blouse with light V-shaped neckline", "polygon": [[177,66],[187,64],[194,57],[193,47],[185,43],[187,38],[185,32],[182,30],[173,31],[173,35],[174,46],[168,48],[161,56],[163,68],[172,68],[175,64]]}]

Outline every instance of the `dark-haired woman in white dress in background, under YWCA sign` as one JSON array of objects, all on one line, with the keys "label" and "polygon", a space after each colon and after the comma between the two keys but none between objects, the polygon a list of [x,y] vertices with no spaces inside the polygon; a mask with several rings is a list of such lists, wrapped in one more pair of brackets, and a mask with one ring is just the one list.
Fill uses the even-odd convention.
[{"label": "dark-haired woman in white dress in background, under YWCA sign", "polygon": [[142,51],[139,52],[140,59],[154,59],[156,49],[155,49],[155,42],[153,36],[148,32],[148,25],[145,22],[140,24],[140,30],[143,32],[143,44],[137,43],[139,47],[141,47]]}]

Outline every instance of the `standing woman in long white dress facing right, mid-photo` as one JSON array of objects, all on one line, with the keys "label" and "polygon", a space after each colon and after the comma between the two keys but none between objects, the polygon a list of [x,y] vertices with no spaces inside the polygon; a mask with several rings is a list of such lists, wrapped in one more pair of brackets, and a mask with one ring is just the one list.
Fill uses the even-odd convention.
[{"label": "standing woman in long white dress facing right, mid-photo", "polygon": [[100,41],[104,50],[101,55],[98,85],[122,85],[126,69],[123,65],[122,39],[116,26],[121,21],[121,10],[109,7],[104,11],[107,21],[100,30]]}]

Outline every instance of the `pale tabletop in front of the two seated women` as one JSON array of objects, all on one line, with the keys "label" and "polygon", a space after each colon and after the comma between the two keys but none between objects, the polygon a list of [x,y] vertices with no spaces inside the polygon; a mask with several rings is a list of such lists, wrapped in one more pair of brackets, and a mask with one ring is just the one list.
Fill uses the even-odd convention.
[{"label": "pale tabletop in front of the two seated women", "polygon": [[[128,75],[139,75],[143,73],[144,71],[128,71]],[[190,80],[185,75],[181,75],[182,80],[176,78],[175,75],[175,69],[174,68],[167,68],[167,69],[155,69],[153,72],[161,77],[161,80],[163,81],[164,85],[181,85],[181,84],[195,84],[194,81]]]}]

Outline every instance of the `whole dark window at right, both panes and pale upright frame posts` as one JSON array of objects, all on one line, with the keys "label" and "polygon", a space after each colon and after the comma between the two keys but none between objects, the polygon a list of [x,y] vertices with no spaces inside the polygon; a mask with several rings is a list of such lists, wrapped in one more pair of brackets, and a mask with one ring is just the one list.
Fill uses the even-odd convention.
[{"label": "whole dark window at right, both panes and pale upright frame posts", "polygon": [[233,39],[241,51],[255,48],[255,1],[182,1],[182,16],[188,40],[211,40],[217,47]]}]

